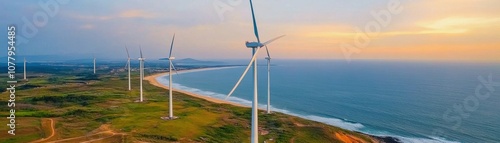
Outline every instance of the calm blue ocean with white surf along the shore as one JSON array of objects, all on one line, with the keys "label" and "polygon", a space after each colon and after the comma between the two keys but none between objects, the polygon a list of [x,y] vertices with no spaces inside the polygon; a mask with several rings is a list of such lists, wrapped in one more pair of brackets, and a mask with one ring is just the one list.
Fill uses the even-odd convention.
[{"label": "calm blue ocean with white surf along the shore", "polygon": [[[260,60],[259,107],[267,105]],[[174,75],[174,88],[224,99],[245,67]],[[252,73],[228,100],[250,106]],[[158,77],[168,85],[168,76]],[[402,142],[500,142],[500,64],[276,60],[271,109]]]}]

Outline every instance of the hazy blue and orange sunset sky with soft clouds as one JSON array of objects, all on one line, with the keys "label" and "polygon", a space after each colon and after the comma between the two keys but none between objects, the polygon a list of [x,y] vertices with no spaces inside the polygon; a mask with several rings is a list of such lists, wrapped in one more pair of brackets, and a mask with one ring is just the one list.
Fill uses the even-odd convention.
[{"label": "hazy blue and orange sunset sky with soft clouds", "polygon": [[[17,56],[246,59],[247,0],[0,0]],[[254,0],[273,59],[500,62],[498,0]],[[7,28],[0,28],[7,36]],[[6,38],[0,42],[7,45]],[[6,55],[7,50],[0,54]],[[265,52],[259,54],[266,56]]]}]

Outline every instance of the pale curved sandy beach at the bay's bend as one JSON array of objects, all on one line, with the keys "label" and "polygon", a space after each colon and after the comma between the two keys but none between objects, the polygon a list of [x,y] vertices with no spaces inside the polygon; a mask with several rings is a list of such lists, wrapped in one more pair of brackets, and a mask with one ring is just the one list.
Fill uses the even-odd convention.
[{"label": "pale curved sandy beach at the bay's bend", "polygon": [[[222,68],[231,68],[231,67],[222,67]],[[221,69],[221,68],[203,68],[203,69],[183,70],[183,71],[179,71],[179,73],[197,72],[197,71],[215,70],[215,69]],[[164,76],[166,74],[168,74],[168,72],[157,73],[157,74],[154,74],[154,75],[150,75],[150,76],[144,77],[144,79],[147,80],[149,83],[151,83],[154,86],[161,87],[161,88],[164,88],[164,89],[169,89],[168,86],[163,85],[163,84],[159,83],[156,80],[156,78],[158,78],[160,76]],[[210,102],[213,102],[213,103],[230,104],[230,105],[233,105],[233,106],[239,106],[239,107],[249,108],[248,106],[243,106],[243,105],[232,103],[232,102],[229,102],[229,101],[226,101],[226,100],[222,100],[222,99],[217,99],[217,98],[212,98],[212,97],[208,97],[208,96],[203,96],[203,95],[200,95],[200,94],[196,94],[196,93],[192,93],[192,92],[188,92],[188,91],[184,91],[184,90],[179,90],[179,89],[175,89],[174,88],[173,91],[184,93],[186,95],[189,95],[189,96],[192,96],[192,97],[196,97],[196,98],[200,98],[200,99],[204,99],[204,100],[207,100],[207,101],[210,101]]]}]

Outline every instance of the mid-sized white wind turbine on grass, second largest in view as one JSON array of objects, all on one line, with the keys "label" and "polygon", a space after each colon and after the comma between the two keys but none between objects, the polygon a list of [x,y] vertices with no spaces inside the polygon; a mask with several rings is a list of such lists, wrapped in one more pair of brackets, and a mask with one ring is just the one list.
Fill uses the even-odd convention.
[{"label": "mid-sized white wind turbine on grass, second largest in view", "polygon": [[173,60],[175,59],[175,57],[172,56],[172,49],[174,48],[174,40],[175,40],[175,34],[174,36],[172,37],[172,43],[170,44],[170,53],[168,55],[168,62],[169,62],[169,68],[168,68],[168,77],[169,77],[169,80],[168,80],[168,109],[169,109],[169,115],[168,117],[162,117],[162,119],[166,119],[166,120],[173,120],[173,119],[177,119],[177,117],[174,116],[174,110],[173,110],[173,106],[172,106],[172,90],[173,90],[173,86],[172,86],[172,68],[174,69],[174,71],[177,72],[177,70],[175,69],[175,66],[173,64]]}]

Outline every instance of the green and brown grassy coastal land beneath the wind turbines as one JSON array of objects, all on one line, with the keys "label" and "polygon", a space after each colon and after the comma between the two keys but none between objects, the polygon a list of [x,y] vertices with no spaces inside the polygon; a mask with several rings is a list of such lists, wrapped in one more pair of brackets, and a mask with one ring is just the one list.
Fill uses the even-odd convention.
[{"label": "green and brown grassy coastal land beneath the wind turbines", "polygon": [[[249,142],[250,109],[174,92],[174,114],[179,119],[162,120],[160,117],[168,115],[168,91],[145,81],[146,101],[137,103],[134,101],[139,98],[138,73],[132,75],[132,91],[127,90],[125,77],[125,73],[94,76],[83,71],[31,77],[20,83],[16,92],[16,135],[7,134],[8,127],[3,126],[0,142],[29,142],[47,137],[42,118],[56,120],[56,135],[50,141],[85,136],[101,125],[109,125],[114,132],[126,135],[101,142]],[[0,117],[7,117],[8,94],[2,95],[0,104],[5,106],[0,106]],[[335,137],[336,132],[372,141],[367,135],[281,113],[261,112],[259,119],[261,133],[267,132],[260,135],[260,142],[341,142]]]}]

